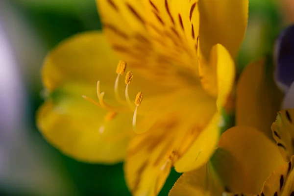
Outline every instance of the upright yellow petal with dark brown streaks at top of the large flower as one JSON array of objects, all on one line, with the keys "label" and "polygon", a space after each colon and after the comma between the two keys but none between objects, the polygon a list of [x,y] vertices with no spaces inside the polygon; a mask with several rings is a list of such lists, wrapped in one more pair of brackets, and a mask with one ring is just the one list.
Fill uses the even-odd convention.
[{"label": "upright yellow petal with dark brown streaks at top of the large flower", "polygon": [[96,1],[103,31],[131,66],[161,76],[197,73],[196,0]]}]

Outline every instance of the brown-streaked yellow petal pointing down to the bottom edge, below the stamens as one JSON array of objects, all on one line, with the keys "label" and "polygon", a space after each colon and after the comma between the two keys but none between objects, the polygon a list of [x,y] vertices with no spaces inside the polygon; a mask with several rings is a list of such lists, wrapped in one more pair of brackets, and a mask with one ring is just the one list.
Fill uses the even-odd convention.
[{"label": "brown-streaked yellow petal pointing down to the bottom edge, below the stamens", "polygon": [[[180,90],[167,95],[166,99],[158,99],[154,107],[156,110],[150,116],[156,121],[146,121],[141,125],[148,127],[147,131],[135,136],[128,147],[124,169],[133,195],[156,195],[173,164],[186,156],[195,140],[199,140],[198,144],[203,149],[199,158],[202,164],[210,157],[217,143],[217,140],[210,141],[210,138],[201,135],[203,127],[216,111],[216,105],[215,98],[205,94],[200,84],[197,89]],[[202,139],[206,142],[201,143]],[[197,150],[196,154],[193,149],[190,150],[194,158],[190,160],[191,156],[186,156],[186,162],[181,161],[181,167],[195,160],[200,149]]]}]

